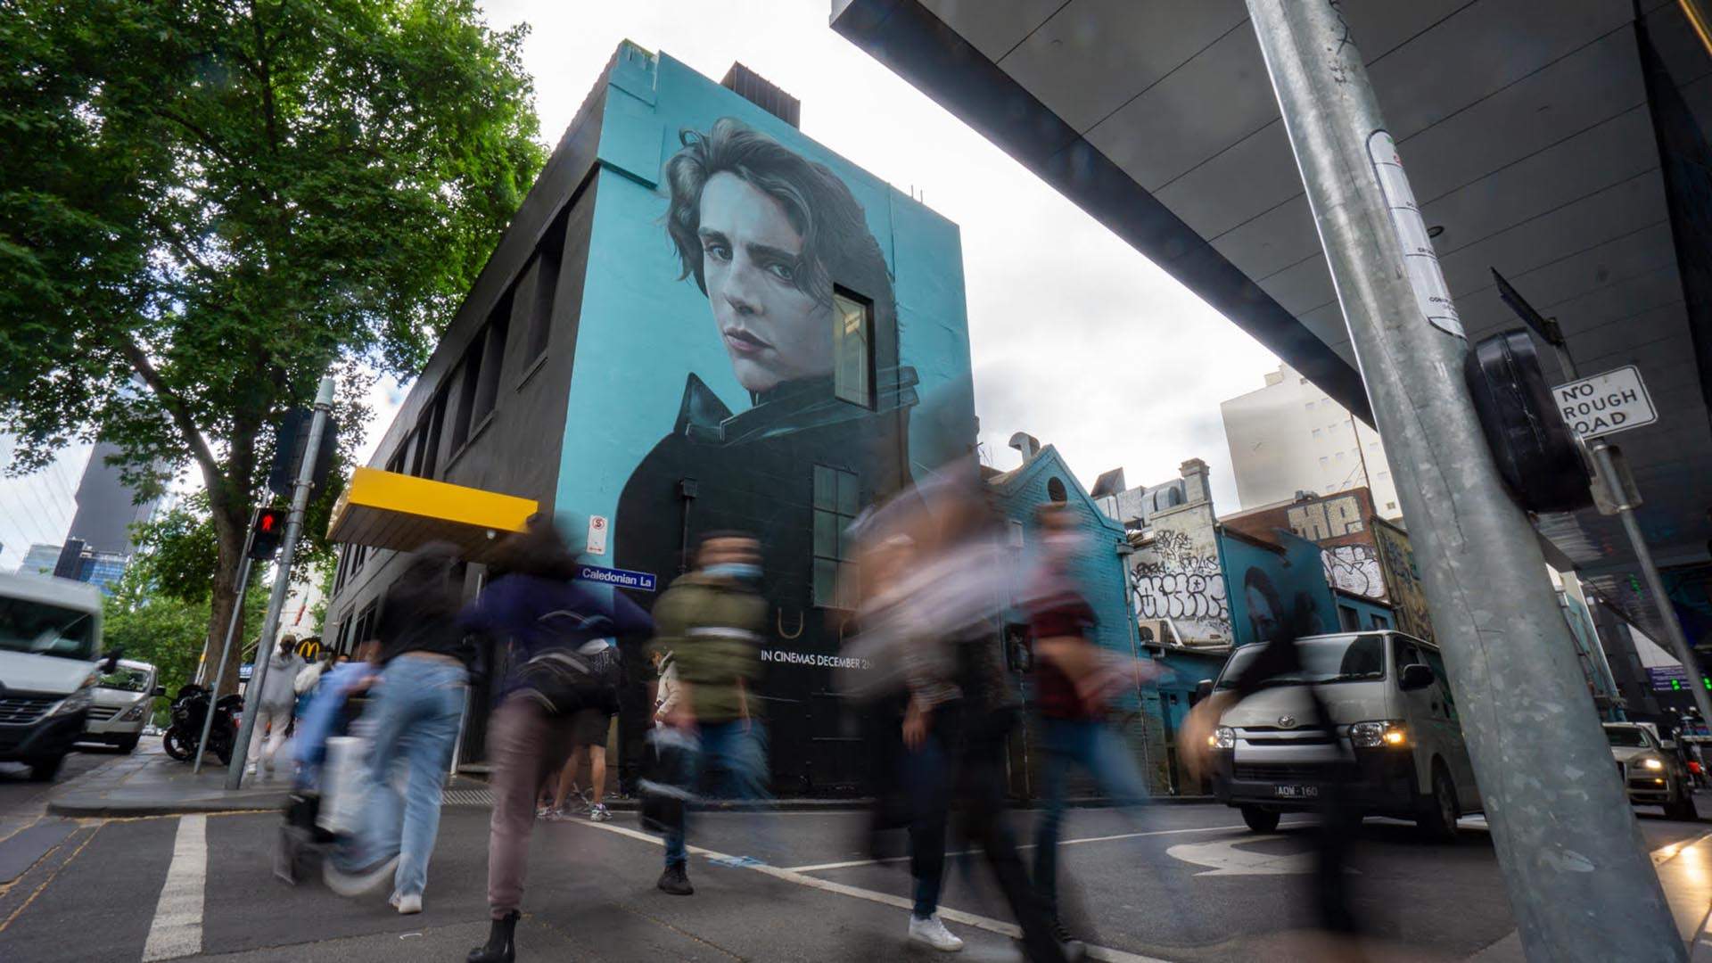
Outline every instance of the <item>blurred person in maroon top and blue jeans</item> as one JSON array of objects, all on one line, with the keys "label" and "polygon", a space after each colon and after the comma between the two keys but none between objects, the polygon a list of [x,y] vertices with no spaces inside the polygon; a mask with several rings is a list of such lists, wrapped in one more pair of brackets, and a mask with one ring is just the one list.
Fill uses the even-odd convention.
[{"label": "blurred person in maroon top and blue jeans", "polygon": [[1065,781],[1080,766],[1120,807],[1147,802],[1147,783],[1123,737],[1106,725],[1106,701],[1137,679],[1156,675],[1149,665],[1118,660],[1094,643],[1094,608],[1082,596],[1072,567],[1082,540],[1077,519],[1063,504],[1036,511],[1044,555],[1025,600],[1034,634],[1034,706],[1041,716],[1046,761],[1041,771],[1041,812],[1034,824],[1034,886],[1053,917],[1053,936],[1072,942],[1058,918],[1058,833],[1065,816]]}]

